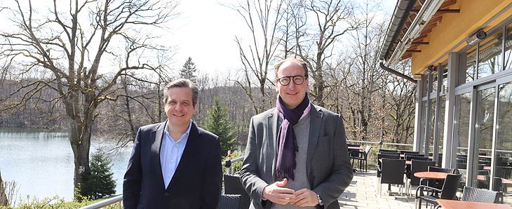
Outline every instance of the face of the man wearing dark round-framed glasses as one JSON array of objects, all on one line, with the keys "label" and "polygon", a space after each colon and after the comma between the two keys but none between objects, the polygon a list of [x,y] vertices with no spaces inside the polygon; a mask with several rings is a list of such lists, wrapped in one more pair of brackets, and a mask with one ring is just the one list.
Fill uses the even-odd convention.
[{"label": "face of the man wearing dark round-framed glasses", "polygon": [[[304,74],[304,68],[302,65],[297,62],[286,61],[281,65],[281,67],[279,67],[277,71],[277,79],[280,79],[283,76],[304,76]],[[297,107],[306,96],[306,90],[309,86],[308,79],[304,79],[302,84],[297,85],[293,79],[290,78],[290,83],[286,86],[283,86],[283,84],[281,84],[277,79],[275,81],[276,90],[281,96],[283,102],[285,102],[285,106],[288,107],[288,109],[295,109],[295,107]]]}]

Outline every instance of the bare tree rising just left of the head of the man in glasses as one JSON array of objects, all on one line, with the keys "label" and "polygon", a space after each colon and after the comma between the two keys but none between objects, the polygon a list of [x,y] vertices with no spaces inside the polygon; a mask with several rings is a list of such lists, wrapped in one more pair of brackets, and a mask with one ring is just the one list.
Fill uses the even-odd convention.
[{"label": "bare tree rising just left of the head of the man in glasses", "polygon": [[250,42],[238,36],[235,38],[243,64],[243,81],[236,83],[243,88],[256,113],[263,112],[274,101],[269,94],[274,85],[269,80],[269,72],[281,40],[278,25],[283,19],[283,4],[284,0],[246,0],[238,6],[231,6],[245,20],[252,35]]}]

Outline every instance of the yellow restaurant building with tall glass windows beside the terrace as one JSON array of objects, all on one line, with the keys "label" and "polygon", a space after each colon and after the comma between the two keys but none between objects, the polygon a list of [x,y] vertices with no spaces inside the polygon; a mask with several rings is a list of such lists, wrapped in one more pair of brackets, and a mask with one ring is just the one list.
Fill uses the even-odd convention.
[{"label": "yellow restaurant building with tall glass windows beside the terrace", "polygon": [[[512,1],[398,0],[381,67],[417,83],[414,149],[512,204]],[[410,59],[410,74],[393,65]],[[508,189],[511,188],[511,189]]]}]

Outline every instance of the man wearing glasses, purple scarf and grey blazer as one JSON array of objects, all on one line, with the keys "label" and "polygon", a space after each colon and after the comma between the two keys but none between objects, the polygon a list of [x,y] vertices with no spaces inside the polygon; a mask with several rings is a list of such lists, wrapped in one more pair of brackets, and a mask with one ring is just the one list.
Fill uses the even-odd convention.
[{"label": "man wearing glasses, purple scarf and grey blazer", "polygon": [[309,102],[302,60],[275,69],[276,108],[252,117],[241,170],[250,208],[339,208],[353,177],[342,117]]}]

